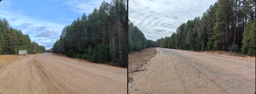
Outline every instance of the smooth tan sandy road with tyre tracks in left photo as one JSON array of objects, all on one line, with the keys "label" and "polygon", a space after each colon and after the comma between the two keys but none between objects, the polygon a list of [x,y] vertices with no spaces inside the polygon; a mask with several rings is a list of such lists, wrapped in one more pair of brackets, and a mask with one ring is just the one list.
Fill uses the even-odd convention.
[{"label": "smooth tan sandy road with tyre tracks in left photo", "polygon": [[127,69],[26,55],[0,66],[0,93],[127,93]]}]

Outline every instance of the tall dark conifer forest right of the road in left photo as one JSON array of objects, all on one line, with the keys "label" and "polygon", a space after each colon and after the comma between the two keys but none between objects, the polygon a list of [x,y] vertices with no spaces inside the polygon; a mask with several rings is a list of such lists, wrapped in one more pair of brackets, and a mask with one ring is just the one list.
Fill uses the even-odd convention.
[{"label": "tall dark conifer forest right of the road in left photo", "polygon": [[71,58],[127,67],[127,25],[127,1],[103,1],[99,9],[95,8],[88,16],[83,14],[63,28],[60,39],[49,51]]}]

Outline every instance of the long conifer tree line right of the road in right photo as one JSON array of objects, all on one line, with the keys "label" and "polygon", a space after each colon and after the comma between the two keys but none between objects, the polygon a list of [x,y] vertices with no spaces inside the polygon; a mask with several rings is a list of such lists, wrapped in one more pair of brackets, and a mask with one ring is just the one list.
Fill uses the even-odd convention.
[{"label": "long conifer tree line right of the road in right photo", "polygon": [[219,0],[202,15],[188,20],[171,36],[158,39],[160,48],[223,50],[255,55],[255,2]]}]

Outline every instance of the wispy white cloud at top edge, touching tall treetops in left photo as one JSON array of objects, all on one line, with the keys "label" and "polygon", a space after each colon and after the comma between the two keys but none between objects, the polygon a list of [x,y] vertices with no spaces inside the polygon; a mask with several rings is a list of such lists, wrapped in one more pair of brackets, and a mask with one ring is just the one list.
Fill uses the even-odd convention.
[{"label": "wispy white cloud at top edge, touching tall treetops in left photo", "polygon": [[[94,8],[99,8],[104,0],[68,0],[63,4],[69,6],[70,11],[75,13],[92,13]],[[105,0],[105,2],[110,3],[110,0]]]}]

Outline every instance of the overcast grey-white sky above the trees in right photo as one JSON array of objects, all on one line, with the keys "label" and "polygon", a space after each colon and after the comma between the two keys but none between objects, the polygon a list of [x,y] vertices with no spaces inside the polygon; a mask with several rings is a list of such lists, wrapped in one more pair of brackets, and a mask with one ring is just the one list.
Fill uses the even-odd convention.
[{"label": "overcast grey-white sky above the trees in right photo", "polygon": [[128,17],[147,39],[171,36],[178,26],[201,17],[217,0],[129,0]]}]

